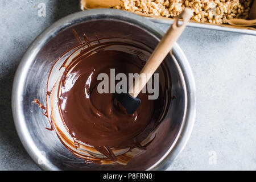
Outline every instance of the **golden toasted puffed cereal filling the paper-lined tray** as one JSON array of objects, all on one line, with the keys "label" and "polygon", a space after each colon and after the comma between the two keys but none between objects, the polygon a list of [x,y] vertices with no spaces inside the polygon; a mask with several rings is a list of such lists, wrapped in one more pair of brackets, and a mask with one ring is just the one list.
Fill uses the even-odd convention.
[{"label": "golden toasted puffed cereal filling the paper-lined tray", "polygon": [[252,0],[121,0],[115,9],[175,18],[189,7],[196,22],[227,23],[228,19],[247,19]]}]

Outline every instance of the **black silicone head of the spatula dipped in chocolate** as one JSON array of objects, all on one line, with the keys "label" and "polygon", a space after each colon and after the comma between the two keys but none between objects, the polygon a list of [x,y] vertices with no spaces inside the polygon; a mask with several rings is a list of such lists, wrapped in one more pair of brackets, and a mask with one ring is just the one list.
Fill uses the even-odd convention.
[{"label": "black silicone head of the spatula dipped in chocolate", "polygon": [[115,99],[125,108],[127,114],[133,114],[141,105],[139,98],[134,98],[129,93],[120,93],[115,96]]}]

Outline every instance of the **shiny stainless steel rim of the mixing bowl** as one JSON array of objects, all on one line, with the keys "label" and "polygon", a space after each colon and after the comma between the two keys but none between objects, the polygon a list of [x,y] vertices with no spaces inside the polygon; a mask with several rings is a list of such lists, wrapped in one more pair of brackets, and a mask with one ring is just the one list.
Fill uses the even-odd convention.
[{"label": "shiny stainless steel rim of the mixing bowl", "polygon": [[[64,18],[58,20],[49,26],[46,30],[44,30],[35,40],[32,42],[30,47],[28,47],[26,53],[24,53],[22,60],[19,63],[18,69],[15,73],[15,78],[13,82],[13,91],[12,91],[12,110],[14,123],[16,127],[16,131],[18,132],[19,138],[27,150],[28,154],[34,160],[36,164],[38,164],[39,155],[42,155],[38,148],[36,147],[33,139],[28,132],[26,127],[26,121],[22,114],[22,91],[23,85],[26,78],[26,70],[30,69],[30,65],[35,59],[36,55],[40,51],[40,49],[51,39],[53,36],[57,35],[58,32],[72,26],[72,24],[76,24],[84,20],[85,18],[92,18],[94,16],[104,15],[109,18],[113,18],[114,16],[121,18],[127,22],[133,22],[134,24],[139,24],[146,28],[147,31],[154,32],[154,35],[160,40],[164,35],[164,32],[160,30],[160,28],[156,27],[154,23],[150,22],[146,18],[143,18],[139,15],[135,15],[133,13],[129,13],[121,10],[114,9],[95,9],[95,10],[86,10],[81,11],[75,14],[71,14],[65,16]],[[174,146],[172,146],[166,155],[162,156],[158,163],[155,163],[153,166],[148,168],[148,170],[163,170],[166,169],[172,161],[180,154],[180,152],[185,147],[187,143],[191,131],[195,122],[196,116],[196,88],[195,88],[195,80],[193,78],[191,67],[189,66],[188,60],[185,57],[183,51],[181,51],[180,47],[175,43],[172,48],[172,54],[176,58],[174,59],[177,68],[179,69],[181,76],[183,77],[185,90],[185,114],[183,118],[183,125],[179,131],[179,137],[177,137]],[[40,168],[44,170],[55,170],[57,168],[52,168],[48,165],[40,165]]]}]

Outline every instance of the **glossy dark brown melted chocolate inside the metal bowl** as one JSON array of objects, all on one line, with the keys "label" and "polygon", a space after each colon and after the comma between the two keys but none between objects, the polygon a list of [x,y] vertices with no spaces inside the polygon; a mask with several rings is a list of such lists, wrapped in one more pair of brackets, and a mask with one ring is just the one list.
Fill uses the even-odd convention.
[{"label": "glossy dark brown melted chocolate inside the metal bowl", "polygon": [[[145,150],[152,140],[144,146],[141,145],[142,141],[160,122],[164,105],[162,92],[159,90],[158,100],[148,100],[148,93],[140,93],[138,97],[142,101],[141,106],[133,115],[128,115],[116,106],[113,93],[100,94],[97,91],[97,85],[101,82],[97,80],[98,74],[106,73],[110,78],[110,69],[115,69],[115,75],[139,73],[145,62],[137,55],[106,49],[112,45],[126,43],[101,43],[96,36],[98,44],[91,45],[92,41],[85,34],[83,43],[75,30],[73,33],[82,49],[71,63],[65,65],[66,60],[61,66],[65,71],[61,77],[58,94],[61,118],[69,134],[76,140],[93,146],[111,161],[117,160],[112,150],[123,148],[131,150],[135,147]],[[92,49],[97,51],[88,53]],[[50,94],[47,92],[47,96]],[[35,101],[42,109],[46,109],[38,100]],[[75,142],[75,146],[77,148],[79,144]],[[76,155],[75,152],[73,154]],[[100,159],[93,157],[95,163],[101,163]],[[131,159],[125,155],[120,155],[118,158],[127,161]]]}]

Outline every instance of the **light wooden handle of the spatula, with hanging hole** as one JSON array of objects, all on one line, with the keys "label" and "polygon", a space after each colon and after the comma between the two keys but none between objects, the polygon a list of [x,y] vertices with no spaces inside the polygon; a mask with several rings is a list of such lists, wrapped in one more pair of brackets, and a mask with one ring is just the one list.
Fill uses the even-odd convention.
[{"label": "light wooden handle of the spatula, with hanging hole", "polygon": [[[153,75],[155,73],[156,69],[158,69],[164,58],[171,51],[172,46],[183,32],[187,22],[191,19],[192,15],[192,11],[188,8],[185,8],[179,17],[174,20],[172,26],[160,40],[158,46],[156,46],[154,52],[147,60],[147,63],[144,65],[140,75],[146,74],[147,76],[148,73],[149,75]],[[181,25],[178,24],[179,19],[183,19],[183,23]],[[146,80],[140,80],[139,77],[135,78],[133,87],[129,88],[129,94],[134,98],[137,97],[142,88],[147,84],[148,80],[150,80],[150,77],[147,76]]]}]

